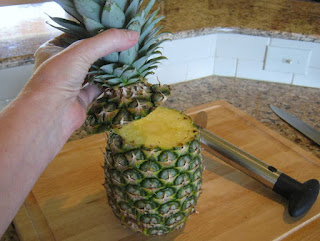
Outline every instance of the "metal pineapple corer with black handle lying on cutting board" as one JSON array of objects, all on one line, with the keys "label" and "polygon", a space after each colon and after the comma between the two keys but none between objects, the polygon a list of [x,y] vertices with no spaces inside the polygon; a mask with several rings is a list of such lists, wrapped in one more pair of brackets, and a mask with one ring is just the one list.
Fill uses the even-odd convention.
[{"label": "metal pineapple corer with black handle lying on cutting board", "polygon": [[200,141],[205,145],[206,151],[216,155],[213,152],[215,150],[227,157],[228,159],[223,159],[223,161],[288,199],[290,216],[301,216],[313,206],[319,194],[318,180],[310,179],[300,183],[277,168],[208,131],[204,128],[207,123],[207,114],[204,111],[195,116],[194,122],[199,127]]}]

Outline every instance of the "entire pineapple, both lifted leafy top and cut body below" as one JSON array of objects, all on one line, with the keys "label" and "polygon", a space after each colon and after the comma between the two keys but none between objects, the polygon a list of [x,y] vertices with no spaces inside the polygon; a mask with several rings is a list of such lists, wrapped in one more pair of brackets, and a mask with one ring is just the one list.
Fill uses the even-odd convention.
[{"label": "entire pineapple, both lifted leafy top and cut body below", "polygon": [[[156,0],[55,0],[75,21],[51,19],[68,34],[65,42],[110,28],[135,30],[133,48],[96,61],[90,82],[103,93],[88,111],[88,124],[107,133],[105,188],[121,223],[145,235],[182,227],[200,195],[202,157],[199,132],[192,120],[158,107],[170,94],[167,85],[151,85],[147,76],[165,59],[159,51],[164,33],[157,23]],[[150,13],[151,12],[151,13]],[[71,37],[70,37],[71,36]],[[144,117],[144,118],[142,118]]]}]

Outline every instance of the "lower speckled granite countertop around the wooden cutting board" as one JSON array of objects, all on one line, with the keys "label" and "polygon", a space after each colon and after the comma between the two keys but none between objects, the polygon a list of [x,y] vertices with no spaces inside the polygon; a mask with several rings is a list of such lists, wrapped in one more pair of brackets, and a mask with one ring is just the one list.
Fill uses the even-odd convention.
[{"label": "lower speckled granite countertop around the wooden cutting board", "polygon": [[[320,158],[319,146],[280,120],[269,108],[269,104],[283,107],[320,130],[320,89],[211,76],[172,85],[172,96],[165,105],[183,111],[214,100],[228,101]],[[80,128],[69,141],[86,136]],[[17,240],[14,227],[10,225],[1,241]]]}]

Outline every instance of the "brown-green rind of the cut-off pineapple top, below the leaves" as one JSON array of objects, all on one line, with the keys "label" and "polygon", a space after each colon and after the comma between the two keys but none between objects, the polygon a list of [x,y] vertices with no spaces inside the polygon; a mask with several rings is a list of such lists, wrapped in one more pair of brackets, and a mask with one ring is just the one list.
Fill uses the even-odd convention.
[{"label": "brown-green rind of the cut-off pineapple top, below the leaves", "polygon": [[86,129],[100,133],[145,117],[167,100],[170,90],[168,85],[147,82],[106,88],[87,113]]}]

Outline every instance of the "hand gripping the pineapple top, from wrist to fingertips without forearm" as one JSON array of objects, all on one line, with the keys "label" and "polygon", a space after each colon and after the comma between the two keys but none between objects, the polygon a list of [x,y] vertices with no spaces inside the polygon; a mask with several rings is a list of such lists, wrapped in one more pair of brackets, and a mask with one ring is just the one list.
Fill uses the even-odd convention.
[{"label": "hand gripping the pineapple top, from wrist to fingertips without forearm", "polygon": [[88,105],[101,93],[95,85],[82,87],[91,64],[109,53],[132,47],[139,35],[133,31],[111,29],[66,49],[61,47],[61,37],[63,35],[37,50],[35,73],[26,89],[49,94],[61,107],[68,104],[66,117],[75,124],[74,131],[83,124]]}]

